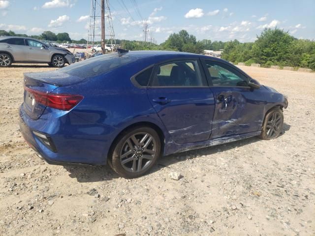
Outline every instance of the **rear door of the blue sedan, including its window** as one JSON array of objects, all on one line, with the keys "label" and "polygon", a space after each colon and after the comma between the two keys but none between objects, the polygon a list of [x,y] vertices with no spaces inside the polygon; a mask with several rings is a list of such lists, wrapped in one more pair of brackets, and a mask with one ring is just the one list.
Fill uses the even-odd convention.
[{"label": "rear door of the blue sedan, including its window", "polygon": [[208,140],[215,109],[199,59],[169,61],[155,66],[148,98],[174,142]]}]

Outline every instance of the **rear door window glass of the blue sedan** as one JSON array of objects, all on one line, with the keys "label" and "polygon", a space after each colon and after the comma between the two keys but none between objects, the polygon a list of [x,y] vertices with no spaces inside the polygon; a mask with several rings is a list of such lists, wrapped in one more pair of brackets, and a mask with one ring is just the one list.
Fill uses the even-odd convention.
[{"label": "rear door window glass of the blue sedan", "polygon": [[196,60],[180,60],[159,65],[151,86],[199,87],[207,83],[200,75]]}]

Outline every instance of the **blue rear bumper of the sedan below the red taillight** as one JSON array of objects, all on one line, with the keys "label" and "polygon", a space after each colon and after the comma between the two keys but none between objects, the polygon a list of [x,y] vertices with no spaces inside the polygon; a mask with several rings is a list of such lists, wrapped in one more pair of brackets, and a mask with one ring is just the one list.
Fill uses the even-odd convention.
[{"label": "blue rear bumper of the sedan below the red taillight", "polygon": [[[106,164],[106,155],[111,144],[109,136],[113,130],[107,130],[109,135],[106,136],[95,135],[93,134],[94,129],[104,130],[104,127],[95,128],[90,125],[91,131],[84,125],[71,125],[65,122],[65,120],[71,119],[67,115],[52,118],[51,113],[44,113],[41,118],[34,120],[25,113],[23,104],[19,109],[19,119],[20,130],[25,141],[48,163],[58,165]],[[87,132],[83,134],[82,131],[85,129]]]}]

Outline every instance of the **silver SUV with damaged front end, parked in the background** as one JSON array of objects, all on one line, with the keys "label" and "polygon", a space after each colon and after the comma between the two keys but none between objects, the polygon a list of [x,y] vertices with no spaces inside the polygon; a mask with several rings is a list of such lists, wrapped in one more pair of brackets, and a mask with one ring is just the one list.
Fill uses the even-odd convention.
[{"label": "silver SUV with damaged front end, parked in the background", "polygon": [[53,47],[37,39],[26,37],[0,37],[0,67],[16,63],[48,63],[63,67],[75,62],[74,55],[65,48]]}]

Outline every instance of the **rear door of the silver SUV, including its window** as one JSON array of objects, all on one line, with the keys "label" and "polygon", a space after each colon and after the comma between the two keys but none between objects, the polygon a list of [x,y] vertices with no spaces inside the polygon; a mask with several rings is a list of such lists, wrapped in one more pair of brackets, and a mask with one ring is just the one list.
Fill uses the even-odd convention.
[{"label": "rear door of the silver SUV, including its window", "polygon": [[27,46],[24,38],[8,38],[4,48],[5,51],[12,54],[14,61],[27,60]]}]

